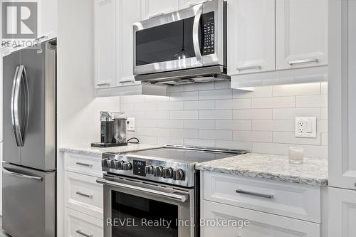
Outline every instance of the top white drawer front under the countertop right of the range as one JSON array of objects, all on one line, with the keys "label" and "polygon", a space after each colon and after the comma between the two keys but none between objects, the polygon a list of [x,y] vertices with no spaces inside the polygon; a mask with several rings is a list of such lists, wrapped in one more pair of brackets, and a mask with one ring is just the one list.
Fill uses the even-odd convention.
[{"label": "top white drawer front under the countertop right of the range", "polygon": [[204,172],[204,199],[320,223],[320,187]]}]

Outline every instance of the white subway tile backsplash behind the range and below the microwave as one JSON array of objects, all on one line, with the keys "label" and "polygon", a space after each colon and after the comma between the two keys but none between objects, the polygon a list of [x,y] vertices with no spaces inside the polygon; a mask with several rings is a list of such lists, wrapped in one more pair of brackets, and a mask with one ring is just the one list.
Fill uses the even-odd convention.
[{"label": "white subway tile backsplash behind the range and below the microwave", "polygon": [[[327,83],[231,90],[229,83],[171,88],[170,96],[126,96],[121,111],[136,117],[142,143],[186,144],[287,154],[290,145],[310,157],[328,157]],[[295,117],[317,117],[318,137],[295,138]]]}]

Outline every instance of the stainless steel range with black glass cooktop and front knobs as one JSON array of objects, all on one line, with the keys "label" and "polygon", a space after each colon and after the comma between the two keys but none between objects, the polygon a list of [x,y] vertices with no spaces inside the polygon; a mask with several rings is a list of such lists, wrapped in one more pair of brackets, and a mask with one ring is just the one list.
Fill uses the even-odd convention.
[{"label": "stainless steel range with black glass cooktop and front knobs", "polygon": [[199,236],[198,162],[244,150],[167,145],[127,154],[104,153],[105,237]]}]

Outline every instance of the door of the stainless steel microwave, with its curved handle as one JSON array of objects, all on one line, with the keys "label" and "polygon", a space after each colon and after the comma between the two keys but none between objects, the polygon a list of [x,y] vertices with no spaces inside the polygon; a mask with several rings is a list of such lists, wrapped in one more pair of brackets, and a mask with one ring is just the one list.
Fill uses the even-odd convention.
[{"label": "door of the stainless steel microwave, with its curved handle", "polygon": [[201,67],[202,7],[198,4],[135,23],[134,75]]}]

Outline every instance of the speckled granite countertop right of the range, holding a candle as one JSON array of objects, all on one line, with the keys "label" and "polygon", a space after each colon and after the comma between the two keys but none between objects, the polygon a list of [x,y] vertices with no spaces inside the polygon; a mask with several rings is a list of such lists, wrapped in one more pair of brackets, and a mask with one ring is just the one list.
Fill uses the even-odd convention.
[{"label": "speckled granite countertop right of the range, holding a candle", "polygon": [[328,159],[305,158],[289,164],[288,156],[248,153],[196,164],[196,169],[314,186],[328,185]]}]

